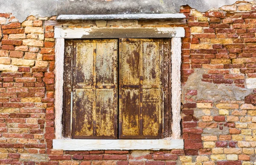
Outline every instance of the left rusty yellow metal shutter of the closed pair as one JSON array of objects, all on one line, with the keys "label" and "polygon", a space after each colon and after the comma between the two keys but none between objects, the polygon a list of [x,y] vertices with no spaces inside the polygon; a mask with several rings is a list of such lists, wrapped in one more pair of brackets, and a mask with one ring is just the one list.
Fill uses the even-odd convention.
[{"label": "left rusty yellow metal shutter of the closed pair", "polygon": [[117,40],[73,41],[74,139],[117,138]]}]

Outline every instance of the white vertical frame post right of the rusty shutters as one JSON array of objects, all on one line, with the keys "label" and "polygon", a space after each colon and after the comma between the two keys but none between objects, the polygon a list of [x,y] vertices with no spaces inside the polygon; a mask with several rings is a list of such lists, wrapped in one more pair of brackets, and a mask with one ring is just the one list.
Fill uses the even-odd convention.
[{"label": "white vertical frame post right of the rusty shutters", "polygon": [[180,139],[181,38],[172,38],[172,139]]}]

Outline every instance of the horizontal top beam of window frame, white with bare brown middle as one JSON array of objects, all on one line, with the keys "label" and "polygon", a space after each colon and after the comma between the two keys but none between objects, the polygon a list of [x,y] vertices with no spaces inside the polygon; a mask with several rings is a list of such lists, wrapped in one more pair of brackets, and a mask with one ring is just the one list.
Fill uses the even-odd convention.
[{"label": "horizontal top beam of window frame, white with bare brown middle", "polygon": [[174,38],[184,37],[183,27],[67,28],[55,27],[54,38]]}]

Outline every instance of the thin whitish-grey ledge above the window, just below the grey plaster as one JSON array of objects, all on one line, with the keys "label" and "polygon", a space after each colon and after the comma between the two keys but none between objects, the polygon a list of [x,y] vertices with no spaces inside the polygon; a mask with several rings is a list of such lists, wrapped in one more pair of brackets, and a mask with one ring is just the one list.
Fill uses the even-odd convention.
[{"label": "thin whitish-grey ledge above the window, just below the grey plaster", "polygon": [[184,14],[91,14],[59,15],[57,20],[172,20],[185,19]]}]

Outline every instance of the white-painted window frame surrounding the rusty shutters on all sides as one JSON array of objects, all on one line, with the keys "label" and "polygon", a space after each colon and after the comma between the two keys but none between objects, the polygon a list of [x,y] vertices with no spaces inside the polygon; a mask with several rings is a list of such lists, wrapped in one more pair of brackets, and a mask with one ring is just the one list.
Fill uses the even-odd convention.
[{"label": "white-painted window frame surrounding the rusty shutters on all sides", "polygon": [[[132,29],[132,27],[130,29]],[[55,122],[55,139],[53,139],[53,149],[64,150],[64,151],[91,151],[91,150],[171,150],[171,149],[184,148],[183,147],[184,142],[180,135],[180,132],[181,132],[180,130],[180,120],[181,120],[180,66],[181,66],[181,38],[185,36],[185,30],[182,27],[164,27],[164,28],[158,28],[156,30],[158,30],[159,33],[161,33],[161,36],[166,35],[166,38],[172,39],[171,41],[172,136],[166,139],[67,139],[67,138],[64,138],[62,136],[64,40],[78,39],[78,38],[86,39],[87,36],[89,36],[90,32],[93,31],[93,27],[90,27],[90,28],[55,27],[55,31],[54,31],[55,38],[56,38],[55,39],[55,121],[54,121]],[[148,36],[148,38],[150,38],[150,36]]]}]

